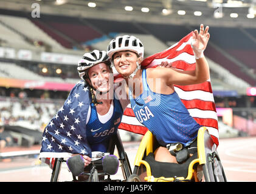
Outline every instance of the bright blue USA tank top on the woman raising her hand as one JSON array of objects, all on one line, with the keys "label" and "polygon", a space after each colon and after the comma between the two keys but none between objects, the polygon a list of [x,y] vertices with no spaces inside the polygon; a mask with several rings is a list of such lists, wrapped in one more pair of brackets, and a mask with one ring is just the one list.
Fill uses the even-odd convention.
[{"label": "bright blue USA tank top on the woman raising her hand", "polygon": [[170,95],[155,93],[147,84],[147,73],[142,71],[143,92],[133,99],[129,92],[131,107],[140,123],[156,136],[161,146],[172,142],[181,142],[184,146],[196,138],[201,127],[190,116],[176,92]]}]

